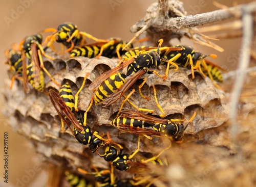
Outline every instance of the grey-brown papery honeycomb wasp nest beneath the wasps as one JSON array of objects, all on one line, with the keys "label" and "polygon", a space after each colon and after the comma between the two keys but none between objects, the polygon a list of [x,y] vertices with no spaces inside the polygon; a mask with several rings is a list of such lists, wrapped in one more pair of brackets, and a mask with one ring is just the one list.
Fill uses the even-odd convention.
[{"label": "grey-brown papery honeycomb wasp nest beneath the wasps", "polygon": [[[45,66],[59,83],[64,79],[68,81],[73,94],[80,88],[84,75],[87,72],[90,73],[78,100],[78,108],[86,111],[94,94],[88,86],[101,73],[115,67],[117,61],[117,59],[104,57],[99,59],[84,57],[58,59],[57,57],[56,60],[46,61]],[[161,65],[157,71],[164,74],[165,69],[166,67]],[[186,124],[193,113],[197,113],[196,118],[185,130],[185,134],[196,135],[201,130],[220,126],[227,120],[229,106],[225,93],[216,89],[210,79],[203,77],[199,72],[195,72],[195,79],[191,79],[191,70],[184,68],[178,71],[170,69],[166,81],[155,74],[145,74],[143,77],[147,77],[147,82],[142,87],[142,93],[150,97],[150,101],[139,95],[137,83],[133,86],[136,92],[131,96],[131,101],[139,108],[151,109],[155,111],[154,115],[161,115],[154,99],[152,85],[155,85],[157,98],[166,119],[183,119],[184,117],[184,124]],[[45,75],[45,82],[46,91],[59,89],[47,75]],[[141,79],[137,82],[139,85]],[[78,143],[69,130],[61,131],[60,118],[48,95],[32,89],[29,94],[25,94],[22,83],[18,81],[15,81],[10,90],[10,83],[9,79],[6,80],[6,86],[2,90],[6,101],[4,113],[8,116],[8,122],[15,131],[33,142],[36,151],[46,161],[74,170],[78,167],[90,170],[91,166],[109,168],[103,158],[92,154],[88,146]],[[110,121],[116,117],[122,99],[106,108],[93,104],[88,113],[87,124],[92,130],[98,130],[100,135],[109,131],[113,141],[124,146],[123,152],[131,154],[137,148],[138,136],[121,133],[110,125]],[[123,109],[135,110],[129,103],[125,103]],[[154,150],[161,149],[162,146],[158,144],[157,139],[160,138],[154,138],[154,142],[143,139],[140,151],[152,150],[154,154]]]}]

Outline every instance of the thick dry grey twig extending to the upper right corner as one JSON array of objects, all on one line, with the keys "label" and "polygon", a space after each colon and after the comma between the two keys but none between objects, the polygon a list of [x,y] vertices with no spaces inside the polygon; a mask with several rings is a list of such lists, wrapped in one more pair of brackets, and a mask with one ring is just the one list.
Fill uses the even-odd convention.
[{"label": "thick dry grey twig extending to the upper right corner", "polygon": [[156,28],[155,32],[161,32],[163,29],[170,31],[178,31],[181,28],[191,28],[194,26],[204,25],[208,23],[220,22],[226,19],[238,18],[242,15],[242,11],[256,10],[256,2],[249,3],[247,5],[239,5],[237,7],[231,7],[229,9],[216,10],[212,12],[189,15],[178,18],[171,18],[166,21],[165,26],[162,28]]}]

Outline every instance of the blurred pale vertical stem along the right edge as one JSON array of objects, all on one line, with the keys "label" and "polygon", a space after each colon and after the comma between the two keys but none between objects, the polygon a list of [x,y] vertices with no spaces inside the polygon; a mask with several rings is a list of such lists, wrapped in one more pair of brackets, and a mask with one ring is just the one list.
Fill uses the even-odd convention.
[{"label": "blurred pale vertical stem along the right edge", "polygon": [[[238,145],[238,103],[239,97],[241,94],[241,90],[243,88],[244,79],[246,75],[246,69],[250,62],[250,49],[251,49],[251,41],[252,41],[252,33],[253,33],[253,14],[255,8],[252,7],[243,7],[242,11],[242,23],[243,23],[243,39],[241,46],[241,55],[239,59],[239,67],[237,78],[232,90],[231,100],[230,100],[230,122],[231,126],[231,138],[235,144]],[[239,147],[238,147],[239,148]],[[240,148],[239,148],[240,149]],[[238,156],[241,158],[241,151],[239,151]]]}]

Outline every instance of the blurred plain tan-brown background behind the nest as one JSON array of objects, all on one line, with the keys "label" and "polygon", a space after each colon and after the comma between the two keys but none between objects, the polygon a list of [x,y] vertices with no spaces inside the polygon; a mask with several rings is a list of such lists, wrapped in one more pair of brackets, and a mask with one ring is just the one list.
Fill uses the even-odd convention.
[{"label": "blurred plain tan-brown background behind the nest", "polygon": [[[24,37],[35,34],[47,28],[55,28],[63,22],[73,22],[78,25],[80,31],[87,32],[100,39],[110,37],[121,37],[129,41],[134,34],[130,33],[130,27],[144,17],[145,10],[157,0],[108,0],[108,1],[1,1],[0,2],[0,88],[7,76],[8,66],[4,50],[11,44],[19,43]],[[219,8],[212,5],[209,0],[183,1],[184,8],[189,14],[198,14],[214,11]],[[251,1],[236,1],[238,4]],[[221,4],[232,6],[232,1],[221,1]],[[44,35],[46,36],[46,35]],[[240,39],[225,39],[216,41],[225,49],[224,52],[200,46],[203,54],[217,54],[218,59],[213,61],[224,65],[227,70],[237,67],[240,53]],[[193,46],[193,42],[174,40],[173,44],[186,44]],[[1,105],[3,103],[0,95]],[[44,163],[36,161],[36,154],[29,146],[29,141],[24,137],[12,132],[5,124],[4,116],[0,116],[0,186],[44,186],[37,182],[37,178],[45,179],[46,171]],[[8,184],[3,182],[4,177],[4,132],[8,132],[8,154],[9,154],[9,178]],[[38,169],[39,167],[39,169]],[[37,169],[35,169],[37,168]],[[28,176],[28,177],[26,177]],[[46,180],[46,179],[45,179]],[[26,182],[25,182],[26,181]]]}]

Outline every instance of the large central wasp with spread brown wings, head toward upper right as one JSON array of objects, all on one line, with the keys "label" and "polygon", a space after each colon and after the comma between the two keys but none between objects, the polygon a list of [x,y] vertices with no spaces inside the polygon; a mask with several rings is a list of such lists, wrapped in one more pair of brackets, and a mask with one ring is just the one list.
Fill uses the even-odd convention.
[{"label": "large central wasp with spread brown wings, head toward upper right", "polygon": [[[157,68],[161,63],[161,58],[159,56],[159,53],[160,53],[159,48],[162,42],[163,40],[159,40],[159,46],[157,49],[150,50],[145,54],[141,54],[134,58],[126,60],[125,62],[119,64],[117,67],[98,76],[89,86],[90,90],[95,90],[95,95],[94,95],[95,104],[102,103],[104,104],[104,106],[113,104],[119,98],[121,98],[124,95],[124,93],[144,73],[156,73],[157,75],[159,75],[156,71],[150,71],[150,68],[151,67]],[[175,65],[177,67],[176,69],[178,69],[178,66],[172,63],[172,61],[169,61],[169,63]],[[118,72],[123,68],[125,68],[126,66],[127,66],[126,74]],[[129,78],[126,78],[128,76]],[[145,80],[142,83],[142,86],[144,83],[145,83]],[[140,91],[140,88],[141,86],[139,87],[139,91]],[[129,94],[129,96],[130,95],[131,94]],[[158,104],[158,107],[159,107],[159,104]]]}]

